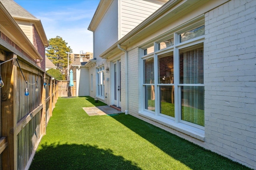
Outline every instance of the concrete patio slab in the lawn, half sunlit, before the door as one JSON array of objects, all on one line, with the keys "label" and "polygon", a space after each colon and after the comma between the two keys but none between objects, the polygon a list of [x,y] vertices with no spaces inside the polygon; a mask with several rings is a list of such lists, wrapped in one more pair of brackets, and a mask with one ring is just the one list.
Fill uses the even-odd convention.
[{"label": "concrete patio slab in the lawn, half sunlit, before the door", "polygon": [[83,109],[89,116],[123,113],[122,111],[118,111],[110,106],[83,107]]}]

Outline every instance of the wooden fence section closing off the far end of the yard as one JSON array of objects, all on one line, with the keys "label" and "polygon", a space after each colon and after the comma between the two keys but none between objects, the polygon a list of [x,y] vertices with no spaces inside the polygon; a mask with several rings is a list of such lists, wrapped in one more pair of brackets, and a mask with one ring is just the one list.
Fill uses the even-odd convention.
[{"label": "wooden fence section closing off the far end of the yard", "polygon": [[76,81],[74,81],[74,86],[69,86],[68,80],[59,81],[58,82],[58,96],[59,97],[76,96]]}]

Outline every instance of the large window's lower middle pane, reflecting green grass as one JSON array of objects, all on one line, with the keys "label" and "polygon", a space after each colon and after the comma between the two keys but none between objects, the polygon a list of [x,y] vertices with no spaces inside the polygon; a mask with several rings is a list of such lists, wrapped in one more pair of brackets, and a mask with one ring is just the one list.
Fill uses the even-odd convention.
[{"label": "large window's lower middle pane, reflecting green grass", "polygon": [[174,117],[174,86],[160,86],[160,113]]}]

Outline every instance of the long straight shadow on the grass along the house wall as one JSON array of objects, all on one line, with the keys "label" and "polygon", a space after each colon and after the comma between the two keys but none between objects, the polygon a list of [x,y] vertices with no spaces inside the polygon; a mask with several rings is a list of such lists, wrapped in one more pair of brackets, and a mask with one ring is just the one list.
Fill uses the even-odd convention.
[{"label": "long straight shadow on the grass along the house wall", "polygon": [[206,150],[132,115],[112,116],[172,158],[194,170],[249,170],[237,162]]}]

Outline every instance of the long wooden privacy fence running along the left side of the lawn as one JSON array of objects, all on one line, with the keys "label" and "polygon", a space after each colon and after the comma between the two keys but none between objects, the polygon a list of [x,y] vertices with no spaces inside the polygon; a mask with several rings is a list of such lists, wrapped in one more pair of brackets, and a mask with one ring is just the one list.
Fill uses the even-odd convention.
[{"label": "long wooden privacy fence running along the left side of the lawn", "polygon": [[[4,170],[29,168],[58,99],[58,81],[36,64],[20,57],[12,60],[16,57],[9,53],[10,61],[0,65],[4,82],[0,88],[0,156]],[[26,87],[28,96],[24,95]]]}]

